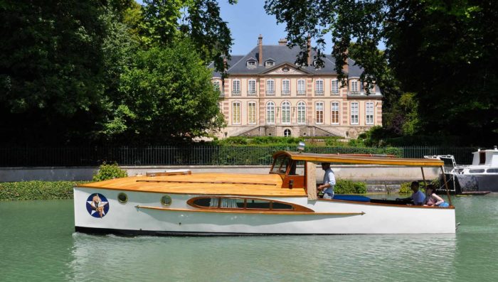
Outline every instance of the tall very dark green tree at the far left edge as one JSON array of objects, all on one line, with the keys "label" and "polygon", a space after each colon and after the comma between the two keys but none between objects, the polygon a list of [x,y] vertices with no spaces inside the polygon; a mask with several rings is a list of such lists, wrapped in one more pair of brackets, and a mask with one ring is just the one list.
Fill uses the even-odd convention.
[{"label": "tall very dark green tree at the far left edge", "polygon": [[[100,1],[1,1],[1,142],[65,142],[103,93]],[[14,138],[15,137],[15,138]]]}]

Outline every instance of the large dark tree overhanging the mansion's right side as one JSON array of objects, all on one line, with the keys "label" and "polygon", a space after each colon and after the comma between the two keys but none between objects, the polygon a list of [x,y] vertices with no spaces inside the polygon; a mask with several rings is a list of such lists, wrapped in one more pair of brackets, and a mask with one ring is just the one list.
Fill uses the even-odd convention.
[{"label": "large dark tree overhanging the mansion's right side", "polygon": [[431,134],[482,145],[498,137],[496,1],[266,0],[265,9],[287,23],[292,44],[311,36],[323,50],[330,32],[339,77],[351,40],[362,80],[383,83],[387,61],[403,92],[415,93]]}]

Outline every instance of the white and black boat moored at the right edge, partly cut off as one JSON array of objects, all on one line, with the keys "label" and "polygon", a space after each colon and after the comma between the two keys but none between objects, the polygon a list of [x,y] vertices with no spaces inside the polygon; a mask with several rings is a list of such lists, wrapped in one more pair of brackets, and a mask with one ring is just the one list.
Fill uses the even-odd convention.
[{"label": "white and black boat moored at the right edge, partly cut off", "polygon": [[[457,165],[452,155],[424,156],[445,161],[444,174],[450,192],[457,195],[485,195],[498,192],[498,148],[472,153],[472,165]],[[440,190],[445,187],[443,174],[440,176]]]}]

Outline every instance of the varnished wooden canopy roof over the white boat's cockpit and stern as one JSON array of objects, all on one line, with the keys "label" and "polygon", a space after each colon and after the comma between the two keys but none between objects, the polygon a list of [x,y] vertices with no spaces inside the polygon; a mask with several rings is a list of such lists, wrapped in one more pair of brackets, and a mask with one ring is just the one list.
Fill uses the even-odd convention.
[{"label": "varnished wooden canopy roof over the white boat's cockpit and stern", "polygon": [[332,153],[298,153],[290,151],[277,151],[273,158],[284,155],[289,156],[295,161],[311,161],[316,163],[351,163],[351,164],[369,164],[369,165],[386,165],[386,166],[418,166],[418,167],[440,167],[444,165],[443,161],[430,158],[391,158],[386,156],[354,156],[340,155]]}]

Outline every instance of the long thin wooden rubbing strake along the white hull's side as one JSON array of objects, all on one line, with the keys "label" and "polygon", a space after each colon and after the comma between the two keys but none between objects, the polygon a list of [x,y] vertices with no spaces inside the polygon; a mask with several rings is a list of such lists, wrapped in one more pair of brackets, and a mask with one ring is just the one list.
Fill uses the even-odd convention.
[{"label": "long thin wooden rubbing strake along the white hull's side", "polygon": [[190,210],[174,209],[169,207],[151,207],[136,205],[137,209],[161,210],[165,212],[214,212],[214,213],[236,213],[236,214],[258,214],[258,215],[365,215],[365,212],[287,212],[277,210],[228,210],[228,209],[210,209],[210,210]]}]

